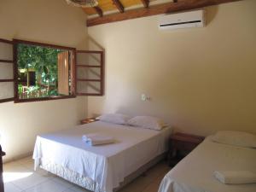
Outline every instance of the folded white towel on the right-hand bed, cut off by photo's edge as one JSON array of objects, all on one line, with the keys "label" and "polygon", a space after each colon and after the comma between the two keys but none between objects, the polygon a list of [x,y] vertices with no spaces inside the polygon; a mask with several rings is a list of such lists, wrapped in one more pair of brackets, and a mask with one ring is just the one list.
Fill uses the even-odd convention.
[{"label": "folded white towel on the right-hand bed, cut off by photo's edge", "polygon": [[213,174],[224,184],[256,183],[256,174],[249,171],[215,171]]}]

